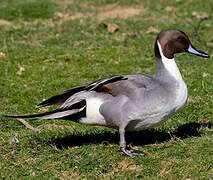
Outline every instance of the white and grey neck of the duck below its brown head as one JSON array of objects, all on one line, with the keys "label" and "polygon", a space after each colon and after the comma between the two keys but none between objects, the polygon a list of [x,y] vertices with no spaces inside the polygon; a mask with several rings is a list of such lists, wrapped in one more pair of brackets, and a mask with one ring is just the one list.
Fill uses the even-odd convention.
[{"label": "white and grey neck of the duck below its brown head", "polygon": [[169,77],[177,81],[183,81],[180,71],[175,63],[175,59],[169,59],[163,55],[160,43],[155,43],[156,56],[156,72],[155,78],[160,80],[167,80]]}]

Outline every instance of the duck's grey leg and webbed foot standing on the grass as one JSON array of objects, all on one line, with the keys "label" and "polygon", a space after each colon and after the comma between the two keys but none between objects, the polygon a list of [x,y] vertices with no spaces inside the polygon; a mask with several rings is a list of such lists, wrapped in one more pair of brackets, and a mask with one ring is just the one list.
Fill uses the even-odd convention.
[{"label": "duck's grey leg and webbed foot standing on the grass", "polygon": [[120,134],[120,150],[127,156],[145,156],[145,153],[142,151],[130,149],[126,146],[126,140],[125,140],[125,128],[119,128],[119,134]]}]

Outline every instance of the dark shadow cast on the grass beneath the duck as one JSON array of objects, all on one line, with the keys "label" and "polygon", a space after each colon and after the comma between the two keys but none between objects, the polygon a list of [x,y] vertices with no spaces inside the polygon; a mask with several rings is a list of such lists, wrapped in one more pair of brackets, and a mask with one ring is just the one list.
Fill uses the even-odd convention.
[{"label": "dark shadow cast on the grass beneath the duck", "polygon": [[[179,139],[185,139],[187,137],[199,137],[201,127],[212,128],[212,123],[189,123],[178,127],[172,132],[159,131],[156,129],[144,130],[139,132],[127,132],[127,143],[131,143],[133,146],[144,146],[148,144],[162,143],[168,141],[173,137]],[[118,132],[104,132],[101,134],[89,134],[89,135],[71,135],[64,138],[57,138],[50,141],[50,144],[54,144],[57,148],[69,148],[73,146],[81,146],[83,144],[118,144],[119,134]]]}]

